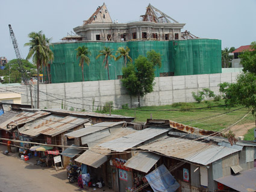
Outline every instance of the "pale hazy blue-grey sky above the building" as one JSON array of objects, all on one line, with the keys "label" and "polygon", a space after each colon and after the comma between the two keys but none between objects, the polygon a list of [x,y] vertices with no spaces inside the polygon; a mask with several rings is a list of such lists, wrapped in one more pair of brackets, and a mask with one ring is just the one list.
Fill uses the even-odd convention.
[{"label": "pale hazy blue-grey sky above the building", "polygon": [[[2,0],[0,11],[0,57],[16,58],[10,39],[11,24],[22,57],[27,57],[28,34],[42,30],[52,43],[83,25],[104,1],[86,0]],[[182,31],[201,38],[222,40],[222,49],[256,41],[256,0],[105,0],[112,20],[126,23],[139,20],[149,2],[180,23]]]}]

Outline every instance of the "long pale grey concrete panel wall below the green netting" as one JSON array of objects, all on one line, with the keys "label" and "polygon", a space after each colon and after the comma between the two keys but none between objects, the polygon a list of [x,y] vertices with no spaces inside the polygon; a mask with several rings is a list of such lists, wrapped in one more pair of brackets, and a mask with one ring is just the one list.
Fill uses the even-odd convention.
[{"label": "long pale grey concrete panel wall below the green netting", "polygon": [[[141,98],[142,106],[170,105],[176,102],[194,102],[192,91],[210,88],[219,94],[220,82],[236,82],[238,72],[214,73],[205,75],[166,76],[155,78],[154,91]],[[22,104],[31,104],[30,88],[3,87],[0,93],[12,91],[22,95]],[[36,106],[37,85],[32,89],[33,104]],[[64,108],[66,110],[95,111],[113,101],[114,109],[122,105],[136,106],[137,97],[126,94],[120,80],[67,82],[59,84],[40,84],[40,108]]]}]

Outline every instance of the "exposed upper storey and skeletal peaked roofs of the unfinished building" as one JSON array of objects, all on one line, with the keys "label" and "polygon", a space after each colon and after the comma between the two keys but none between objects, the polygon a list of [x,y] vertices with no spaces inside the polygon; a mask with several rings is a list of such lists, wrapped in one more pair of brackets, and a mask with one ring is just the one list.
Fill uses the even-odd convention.
[{"label": "exposed upper storey and skeletal peaked roofs of the unfinished building", "polygon": [[185,23],[179,23],[151,4],[138,22],[112,21],[105,3],[82,26],[73,28],[82,40],[125,42],[130,40],[179,40]]}]

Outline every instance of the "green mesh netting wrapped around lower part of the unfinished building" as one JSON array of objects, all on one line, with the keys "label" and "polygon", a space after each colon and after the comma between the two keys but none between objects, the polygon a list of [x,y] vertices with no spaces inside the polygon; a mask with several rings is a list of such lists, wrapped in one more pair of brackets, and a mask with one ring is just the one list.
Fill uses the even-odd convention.
[{"label": "green mesh netting wrapped around lower part of the unfinished building", "polygon": [[[139,55],[154,49],[162,55],[162,66],[155,70],[155,76],[198,75],[221,73],[221,41],[213,39],[191,39],[176,41],[134,41],[134,42],[69,42],[55,43],[52,47],[54,61],[51,64],[52,83],[82,81],[79,58],[76,59],[75,49],[87,46],[90,55],[90,65],[84,64],[85,81],[107,80],[107,69],[102,65],[104,57],[96,56],[104,46],[113,49],[114,54],[119,47],[131,49],[130,57],[135,60]],[[109,60],[110,79],[122,75],[123,59]],[[45,78],[47,75],[45,74]]]}]

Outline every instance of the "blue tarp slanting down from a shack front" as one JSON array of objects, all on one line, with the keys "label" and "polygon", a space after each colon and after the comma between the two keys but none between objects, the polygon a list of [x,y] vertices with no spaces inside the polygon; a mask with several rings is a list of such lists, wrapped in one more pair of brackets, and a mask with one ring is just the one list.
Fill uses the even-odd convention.
[{"label": "blue tarp slanting down from a shack front", "polygon": [[180,187],[164,164],[145,177],[154,192],[174,192]]}]

